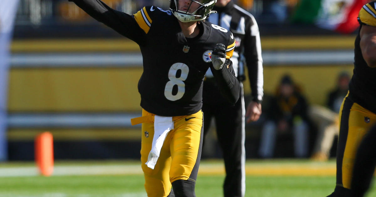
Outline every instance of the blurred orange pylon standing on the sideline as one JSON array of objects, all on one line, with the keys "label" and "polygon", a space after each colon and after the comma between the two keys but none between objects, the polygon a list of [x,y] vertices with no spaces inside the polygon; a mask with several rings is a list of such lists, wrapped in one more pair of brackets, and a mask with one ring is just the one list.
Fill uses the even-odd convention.
[{"label": "blurred orange pylon standing on the sideline", "polygon": [[43,176],[51,176],[53,171],[53,137],[43,132],[35,138],[35,163]]}]

